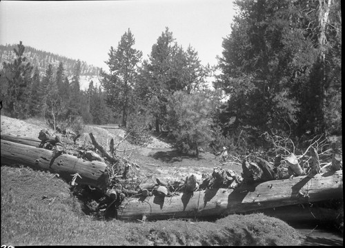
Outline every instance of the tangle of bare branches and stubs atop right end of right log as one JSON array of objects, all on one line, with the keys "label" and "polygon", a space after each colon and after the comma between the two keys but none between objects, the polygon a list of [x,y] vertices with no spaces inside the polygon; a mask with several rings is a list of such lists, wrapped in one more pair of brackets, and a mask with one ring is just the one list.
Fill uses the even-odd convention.
[{"label": "tangle of bare branches and stubs atop right end of right log", "polygon": [[260,183],[342,169],[342,144],[335,136],[315,136],[307,141],[308,145],[302,144],[306,149],[297,149],[291,138],[271,136],[268,132],[262,136],[271,144],[272,152],[252,152],[244,158],[229,153],[227,160],[230,163],[219,161],[223,165],[242,165],[244,183]]}]

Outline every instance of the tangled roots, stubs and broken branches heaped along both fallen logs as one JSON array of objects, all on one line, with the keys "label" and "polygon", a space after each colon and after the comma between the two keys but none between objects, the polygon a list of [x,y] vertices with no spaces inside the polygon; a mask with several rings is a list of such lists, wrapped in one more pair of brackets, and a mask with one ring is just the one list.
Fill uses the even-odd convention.
[{"label": "tangled roots, stubs and broken branches heaped along both fallen logs", "polygon": [[[302,176],[319,173],[325,169],[342,168],[342,151],[322,137],[314,138],[308,148],[301,154],[296,154],[293,141],[290,138],[263,134],[266,141],[273,144],[275,158],[265,160],[259,154],[250,154],[242,161],[242,174],[239,176],[231,169],[222,166],[215,167],[213,173],[204,174],[201,179],[193,174],[179,180],[156,179],[156,183],[146,183],[147,178],[140,176],[139,165],[130,161],[129,157],[119,156],[117,147],[126,137],[115,145],[110,141],[109,149],[101,146],[92,133],[89,134],[93,147],[75,147],[76,156],[89,161],[106,163],[109,182],[108,187],[99,192],[97,189],[85,185],[77,185],[72,180],[73,192],[83,199],[86,211],[95,216],[114,214],[124,198],[146,196],[174,196],[184,192],[195,192],[212,188],[235,189],[242,183],[259,183],[267,180],[285,179],[291,176]],[[76,145],[78,136],[73,139]],[[54,137],[46,131],[41,131],[39,138],[43,147],[65,152],[61,138]],[[62,148],[61,148],[62,147]],[[236,158],[240,161],[239,158]],[[112,209],[111,211],[109,211]]]}]

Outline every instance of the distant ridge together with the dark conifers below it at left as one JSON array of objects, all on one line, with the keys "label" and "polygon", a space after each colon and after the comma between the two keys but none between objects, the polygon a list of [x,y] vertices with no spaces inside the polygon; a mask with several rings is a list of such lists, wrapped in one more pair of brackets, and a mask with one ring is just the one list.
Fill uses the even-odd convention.
[{"label": "distant ridge together with the dark conifers below it at left", "polygon": [[98,77],[101,68],[23,45],[0,45],[1,114],[43,117],[77,130],[113,121]]}]

